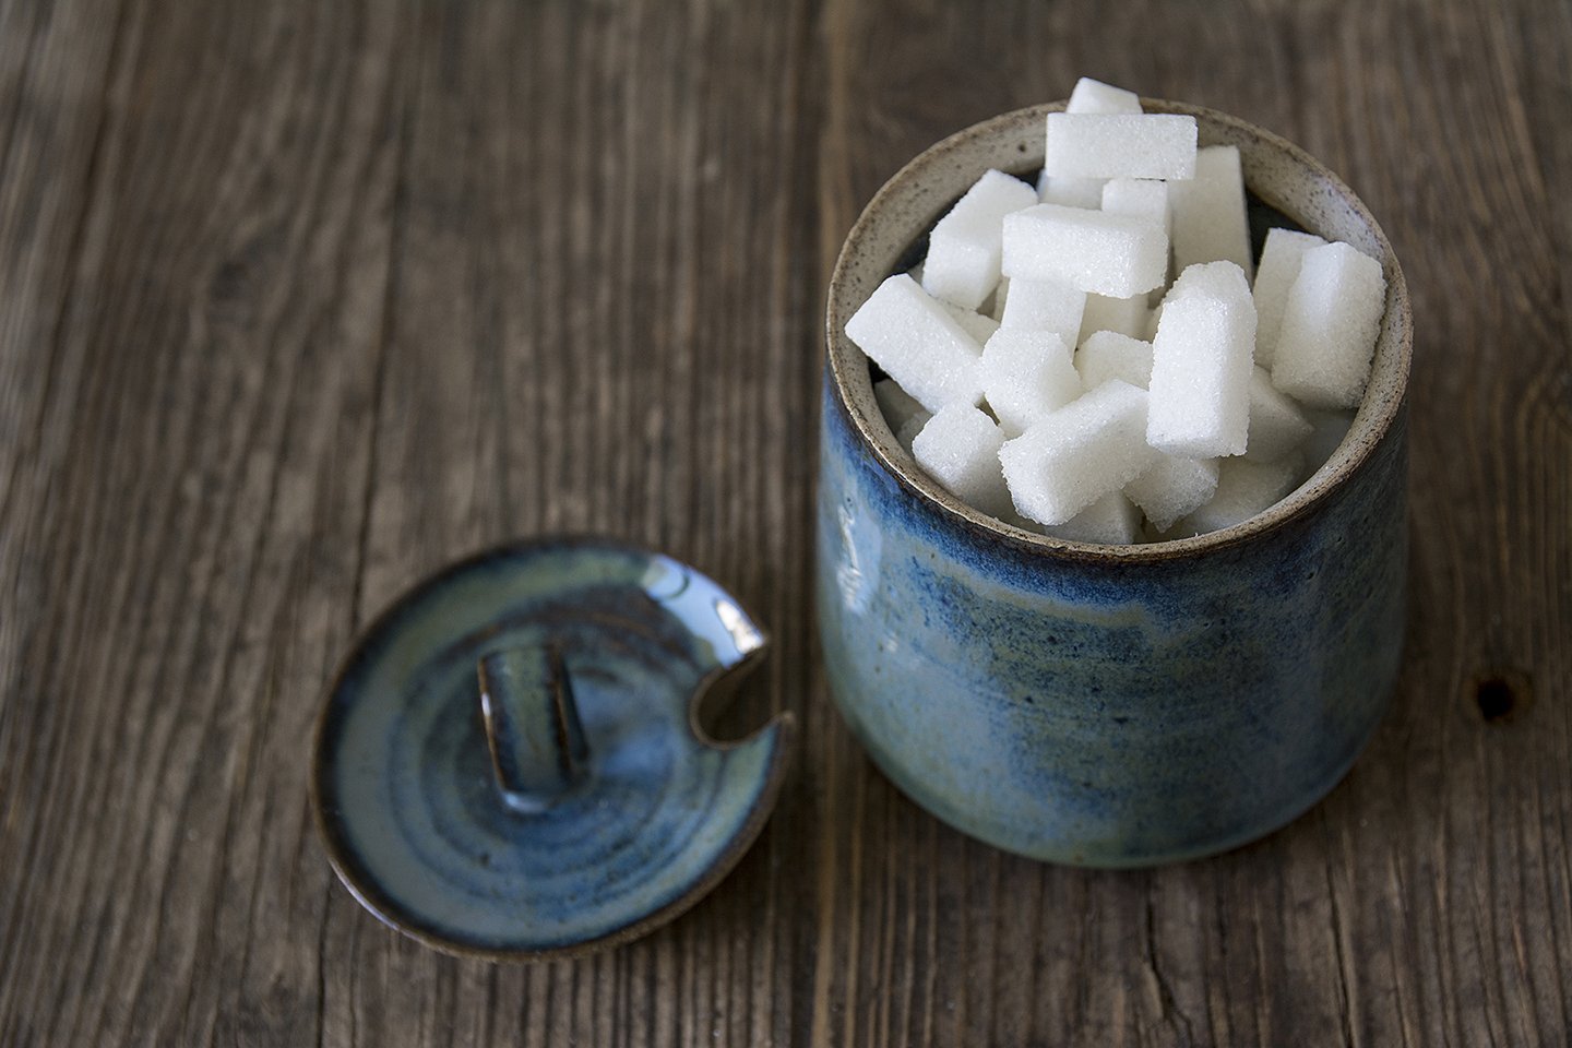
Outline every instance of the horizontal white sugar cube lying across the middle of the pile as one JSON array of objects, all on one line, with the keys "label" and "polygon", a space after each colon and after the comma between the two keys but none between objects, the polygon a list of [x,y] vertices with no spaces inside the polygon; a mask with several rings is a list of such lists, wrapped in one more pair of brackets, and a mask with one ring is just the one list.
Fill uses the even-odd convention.
[{"label": "horizontal white sugar cube lying across the middle of the pile", "polygon": [[1003,272],[1129,299],[1168,277],[1168,237],[1129,215],[1038,204],[1005,215]]}]

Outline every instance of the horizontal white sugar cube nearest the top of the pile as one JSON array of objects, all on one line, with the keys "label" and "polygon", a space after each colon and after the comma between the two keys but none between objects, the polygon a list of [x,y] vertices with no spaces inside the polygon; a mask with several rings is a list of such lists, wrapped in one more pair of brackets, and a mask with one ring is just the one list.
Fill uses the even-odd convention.
[{"label": "horizontal white sugar cube nearest the top of the pile", "polygon": [[1042,170],[1049,178],[1195,174],[1195,116],[1174,113],[1049,113]]}]

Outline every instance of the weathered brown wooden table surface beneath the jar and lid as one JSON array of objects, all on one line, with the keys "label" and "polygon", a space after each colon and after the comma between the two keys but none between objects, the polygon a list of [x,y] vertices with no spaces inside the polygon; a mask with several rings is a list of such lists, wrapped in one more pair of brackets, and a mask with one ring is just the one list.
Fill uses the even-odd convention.
[{"label": "weathered brown wooden table surface beneath the jar and lid", "polygon": [[[1572,1023],[1572,5],[0,5],[0,1045],[1552,1045]],[[1306,146],[1404,259],[1412,613],[1353,773],[1042,866],[901,797],[811,603],[821,316],[902,162],[1078,74]],[[692,559],[794,710],[687,916],[490,966],[307,803],[380,606],[545,531]]]}]

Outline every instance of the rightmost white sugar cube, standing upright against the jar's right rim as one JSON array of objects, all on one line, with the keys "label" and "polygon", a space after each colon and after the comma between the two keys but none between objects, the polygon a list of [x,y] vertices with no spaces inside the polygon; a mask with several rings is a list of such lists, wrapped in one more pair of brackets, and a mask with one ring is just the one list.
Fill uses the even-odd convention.
[{"label": "rightmost white sugar cube, standing upright against the jar's right rim", "polygon": [[1272,383],[1311,407],[1355,407],[1385,306],[1380,262],[1347,244],[1305,251],[1283,306]]}]

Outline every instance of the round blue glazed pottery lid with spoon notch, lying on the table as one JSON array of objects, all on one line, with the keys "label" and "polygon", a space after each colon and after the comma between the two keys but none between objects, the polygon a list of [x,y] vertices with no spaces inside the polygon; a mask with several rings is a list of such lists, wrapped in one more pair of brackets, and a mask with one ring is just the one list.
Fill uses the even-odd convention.
[{"label": "round blue glazed pottery lid with spoon notch, lying on the table", "polygon": [[792,721],[698,727],[767,638],[660,553],[544,539],[453,564],[360,638],[327,696],[311,803],[385,924],[461,955],[623,943],[736,864],[775,806]]}]

